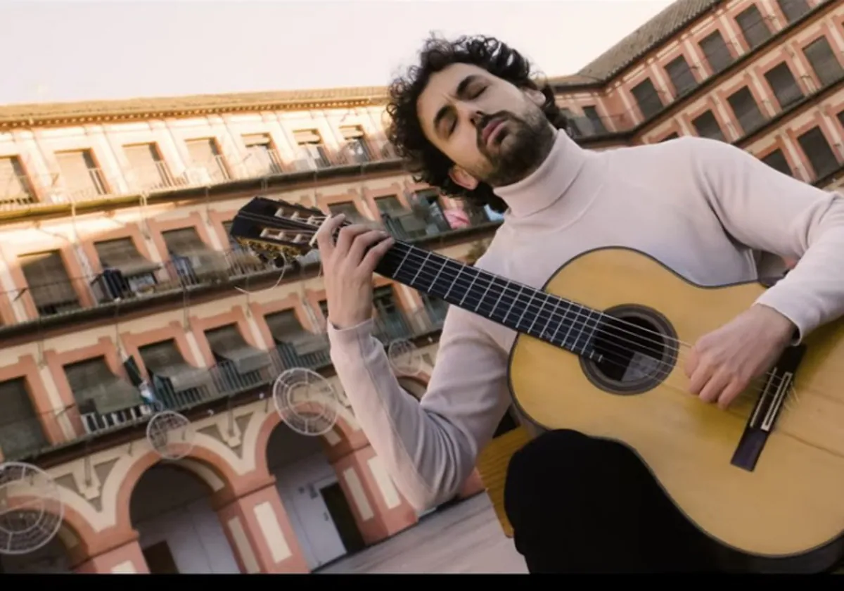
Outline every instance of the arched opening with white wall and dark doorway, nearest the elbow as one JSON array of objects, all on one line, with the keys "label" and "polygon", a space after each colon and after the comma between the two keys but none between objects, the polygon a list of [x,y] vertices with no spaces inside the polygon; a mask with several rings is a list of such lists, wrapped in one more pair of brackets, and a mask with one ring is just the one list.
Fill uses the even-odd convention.
[{"label": "arched opening with white wall and dark doorway, nearest the elbow", "polygon": [[267,443],[268,470],[311,571],[365,545],[325,453],[326,437],[341,435],[303,436],[279,422]]}]

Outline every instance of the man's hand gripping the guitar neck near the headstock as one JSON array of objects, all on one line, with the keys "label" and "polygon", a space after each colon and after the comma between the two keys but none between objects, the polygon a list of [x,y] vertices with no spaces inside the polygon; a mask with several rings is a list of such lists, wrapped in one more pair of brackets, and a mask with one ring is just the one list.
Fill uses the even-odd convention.
[{"label": "man's hand gripping the guitar neck near the headstock", "polygon": [[[340,329],[357,326],[372,317],[372,275],[378,261],[395,244],[384,230],[365,225],[345,226],[335,244],[332,236],[344,220],[344,214],[329,217],[317,231],[328,322]],[[368,252],[367,247],[371,247]]]}]

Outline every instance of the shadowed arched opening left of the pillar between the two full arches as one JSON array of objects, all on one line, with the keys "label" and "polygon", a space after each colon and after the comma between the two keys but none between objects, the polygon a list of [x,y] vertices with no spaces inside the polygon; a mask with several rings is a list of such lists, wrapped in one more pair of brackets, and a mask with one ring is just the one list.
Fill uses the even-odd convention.
[{"label": "shadowed arched opening left of the pillar between the two full arches", "polygon": [[132,491],[129,515],[150,573],[241,572],[211,507],[213,492],[177,464],[155,464],[143,473]]}]

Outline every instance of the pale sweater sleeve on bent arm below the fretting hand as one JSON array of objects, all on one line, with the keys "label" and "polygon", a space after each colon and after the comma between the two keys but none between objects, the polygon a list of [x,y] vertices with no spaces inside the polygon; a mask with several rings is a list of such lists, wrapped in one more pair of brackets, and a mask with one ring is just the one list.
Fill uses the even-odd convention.
[{"label": "pale sweater sleeve on bent arm below the fretting hand", "polygon": [[328,326],[331,358],[354,416],[419,510],[457,494],[510,404],[506,356],[481,322],[450,306],[421,403],[399,385],[371,320],[343,330]]}]

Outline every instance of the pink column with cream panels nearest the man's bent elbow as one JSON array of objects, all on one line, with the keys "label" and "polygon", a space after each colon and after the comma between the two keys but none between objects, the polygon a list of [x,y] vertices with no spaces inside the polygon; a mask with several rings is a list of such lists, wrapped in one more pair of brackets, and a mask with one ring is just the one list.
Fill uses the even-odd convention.
[{"label": "pink column with cream panels nearest the man's bent elbow", "polygon": [[398,534],[419,520],[371,446],[334,459],[332,465],[366,544]]}]

